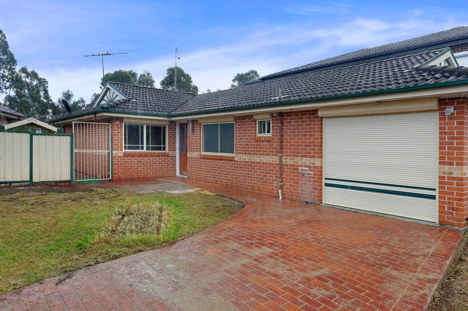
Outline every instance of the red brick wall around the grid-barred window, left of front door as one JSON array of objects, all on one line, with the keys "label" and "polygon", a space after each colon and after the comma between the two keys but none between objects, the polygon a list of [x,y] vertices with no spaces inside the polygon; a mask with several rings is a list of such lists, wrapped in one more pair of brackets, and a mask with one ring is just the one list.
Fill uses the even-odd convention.
[{"label": "red brick wall around the grid-barred window, left of front door", "polygon": [[[171,122],[168,125],[167,152],[145,152],[124,151],[124,122],[121,118],[119,120],[120,122],[118,124],[115,118],[99,120],[101,123],[110,123],[111,127],[113,138],[112,155],[114,181],[174,177],[176,175],[175,122]],[[71,132],[72,126],[66,125],[64,127],[64,133],[69,134]],[[89,139],[86,141],[89,141]],[[77,163],[83,163],[88,160],[91,162],[93,160],[96,161],[96,158],[92,158],[92,155],[88,157],[91,157],[91,159],[84,159],[83,155],[77,155],[77,153],[75,153],[75,171],[80,168],[80,165]],[[97,158],[97,161],[101,160],[102,159]],[[89,164],[87,165],[89,167]]]}]

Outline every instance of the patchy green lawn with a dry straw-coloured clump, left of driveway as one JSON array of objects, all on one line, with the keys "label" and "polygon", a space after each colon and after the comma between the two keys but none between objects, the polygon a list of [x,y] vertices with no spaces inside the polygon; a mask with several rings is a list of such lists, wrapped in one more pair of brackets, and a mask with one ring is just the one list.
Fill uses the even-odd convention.
[{"label": "patchy green lawn with a dry straw-coloured clump, left of driveway", "polygon": [[173,243],[242,207],[219,195],[118,188],[0,196],[0,293]]}]

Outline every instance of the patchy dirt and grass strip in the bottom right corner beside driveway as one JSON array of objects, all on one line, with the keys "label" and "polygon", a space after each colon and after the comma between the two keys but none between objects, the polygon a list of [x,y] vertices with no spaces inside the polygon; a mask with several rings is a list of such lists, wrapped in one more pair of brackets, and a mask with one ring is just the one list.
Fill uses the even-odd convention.
[{"label": "patchy dirt and grass strip in the bottom right corner beside driveway", "polygon": [[468,233],[463,236],[453,263],[428,308],[428,311],[436,310],[468,310]]}]

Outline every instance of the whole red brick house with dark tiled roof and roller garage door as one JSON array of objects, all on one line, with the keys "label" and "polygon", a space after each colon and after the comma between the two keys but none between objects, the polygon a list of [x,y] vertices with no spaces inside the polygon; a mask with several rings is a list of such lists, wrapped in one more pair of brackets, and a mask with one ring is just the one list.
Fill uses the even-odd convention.
[{"label": "whole red brick house with dark tiled roof and roller garage door", "polygon": [[465,227],[468,69],[453,50],[468,50],[468,27],[207,94],[110,82],[53,121],[109,127],[115,181],[180,176]]}]

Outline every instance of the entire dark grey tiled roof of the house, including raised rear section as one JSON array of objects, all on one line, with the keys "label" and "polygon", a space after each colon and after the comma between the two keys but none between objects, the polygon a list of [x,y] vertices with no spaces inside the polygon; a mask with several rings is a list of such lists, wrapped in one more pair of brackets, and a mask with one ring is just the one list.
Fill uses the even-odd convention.
[{"label": "entire dark grey tiled roof of the house, including raised rear section", "polygon": [[[195,95],[111,82],[126,98],[67,114],[55,120],[99,110],[161,116],[188,115],[299,100],[359,96],[368,92],[400,92],[409,87],[437,86],[438,83],[468,79],[465,67],[425,65],[449,49],[449,45],[440,45],[440,42],[452,45],[468,42],[468,27],[452,28],[380,47],[361,49],[264,76],[238,88],[212,93]],[[434,45],[438,48],[433,48]],[[348,60],[352,62],[347,62]],[[302,70],[303,68],[307,70]]]}]

